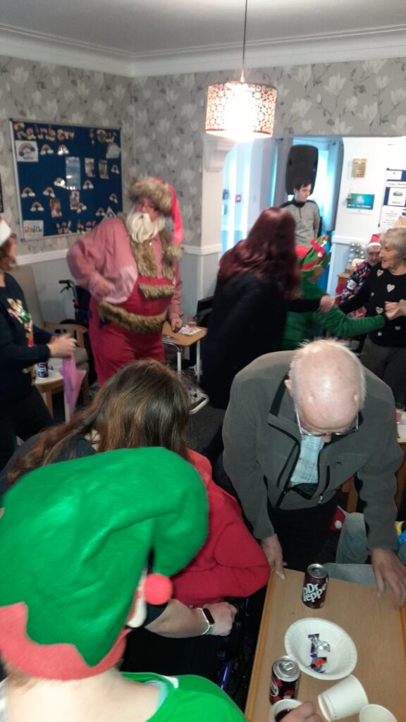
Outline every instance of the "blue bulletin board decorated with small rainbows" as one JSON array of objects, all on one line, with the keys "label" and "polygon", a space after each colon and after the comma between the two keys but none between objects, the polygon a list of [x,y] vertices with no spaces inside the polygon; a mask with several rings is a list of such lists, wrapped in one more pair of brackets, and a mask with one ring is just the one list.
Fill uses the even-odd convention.
[{"label": "blue bulletin board decorated with small rainbows", "polygon": [[121,131],[10,121],[22,238],[87,233],[123,208]]}]

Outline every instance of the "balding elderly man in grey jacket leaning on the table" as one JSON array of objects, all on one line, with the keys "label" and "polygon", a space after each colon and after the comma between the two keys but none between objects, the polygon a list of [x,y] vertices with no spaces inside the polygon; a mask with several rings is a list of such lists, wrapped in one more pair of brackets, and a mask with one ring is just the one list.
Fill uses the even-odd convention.
[{"label": "balding elderly man in grey jacket leaning on the table", "polygon": [[402,462],[392,391],[340,342],[256,359],[236,376],[225,414],[224,466],[272,570],[314,562],[357,474],[376,586],[406,601],[395,472]]}]

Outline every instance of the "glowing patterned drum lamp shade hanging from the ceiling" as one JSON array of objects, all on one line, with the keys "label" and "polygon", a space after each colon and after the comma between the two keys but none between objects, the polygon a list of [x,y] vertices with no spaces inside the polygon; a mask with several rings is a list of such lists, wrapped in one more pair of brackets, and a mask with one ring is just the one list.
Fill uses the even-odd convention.
[{"label": "glowing patterned drum lamp shade hanging from the ceiling", "polygon": [[209,85],[205,131],[236,141],[272,136],[276,88],[264,83]]}]

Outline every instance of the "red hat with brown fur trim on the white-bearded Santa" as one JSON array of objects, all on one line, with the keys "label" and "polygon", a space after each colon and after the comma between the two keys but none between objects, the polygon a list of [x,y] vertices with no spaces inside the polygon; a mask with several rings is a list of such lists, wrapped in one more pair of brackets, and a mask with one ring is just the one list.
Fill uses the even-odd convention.
[{"label": "red hat with brown fur trim on the white-bearded Santa", "polygon": [[147,196],[160,213],[172,216],[173,243],[182,243],[183,223],[175,188],[165,183],[162,178],[141,175],[135,178],[129,187],[129,199],[132,203],[135,203],[139,196]]}]

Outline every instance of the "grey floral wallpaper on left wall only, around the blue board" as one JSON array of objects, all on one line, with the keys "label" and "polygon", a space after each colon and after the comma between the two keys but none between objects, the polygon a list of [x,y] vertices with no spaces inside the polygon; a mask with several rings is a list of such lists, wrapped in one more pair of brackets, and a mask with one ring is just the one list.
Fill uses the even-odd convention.
[{"label": "grey floral wallpaper on left wall only, around the blue board", "polygon": [[[131,175],[134,135],[133,80],[64,66],[0,56],[0,175],[4,215],[17,230],[9,118],[121,128],[124,188]],[[134,170],[134,169],[133,169]],[[66,236],[19,243],[17,254],[67,248]]]}]

